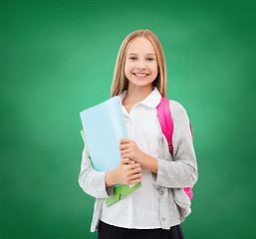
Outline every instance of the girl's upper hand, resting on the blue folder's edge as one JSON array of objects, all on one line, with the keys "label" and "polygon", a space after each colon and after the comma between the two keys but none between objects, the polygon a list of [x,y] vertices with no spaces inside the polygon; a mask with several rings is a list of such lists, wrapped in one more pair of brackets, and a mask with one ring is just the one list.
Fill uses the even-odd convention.
[{"label": "girl's upper hand, resting on the blue folder's edge", "polygon": [[129,138],[121,138],[120,152],[122,158],[130,158],[140,164],[144,158],[144,153],[139,149],[136,143]]}]

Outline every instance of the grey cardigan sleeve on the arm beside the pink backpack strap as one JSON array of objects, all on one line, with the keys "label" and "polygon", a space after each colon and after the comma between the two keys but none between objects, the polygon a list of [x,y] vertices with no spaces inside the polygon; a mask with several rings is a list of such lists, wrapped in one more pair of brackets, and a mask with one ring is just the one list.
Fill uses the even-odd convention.
[{"label": "grey cardigan sleeve on the arm beside the pink backpack strap", "polygon": [[[185,109],[177,102],[170,101],[170,112],[173,121],[173,159],[156,158],[155,183],[170,188],[192,187],[198,174],[189,119]],[[167,156],[170,158],[169,152]]]}]

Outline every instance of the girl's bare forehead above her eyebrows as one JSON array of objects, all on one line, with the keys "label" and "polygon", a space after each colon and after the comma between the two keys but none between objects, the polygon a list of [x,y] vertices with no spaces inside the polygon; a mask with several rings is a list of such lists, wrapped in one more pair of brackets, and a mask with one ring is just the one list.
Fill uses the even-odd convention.
[{"label": "girl's bare forehead above her eyebrows", "polygon": [[151,53],[155,54],[152,43],[143,37],[133,39],[128,46],[128,54],[131,53]]}]

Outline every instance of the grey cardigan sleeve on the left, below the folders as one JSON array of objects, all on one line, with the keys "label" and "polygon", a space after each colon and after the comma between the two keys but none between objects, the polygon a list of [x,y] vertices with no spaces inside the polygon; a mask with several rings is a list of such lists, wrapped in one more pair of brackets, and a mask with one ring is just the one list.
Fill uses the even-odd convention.
[{"label": "grey cardigan sleeve on the left, below the folders", "polygon": [[113,195],[114,186],[106,188],[106,171],[94,169],[89,158],[86,147],[82,153],[81,171],[79,174],[79,184],[89,195],[96,198],[106,198]]}]

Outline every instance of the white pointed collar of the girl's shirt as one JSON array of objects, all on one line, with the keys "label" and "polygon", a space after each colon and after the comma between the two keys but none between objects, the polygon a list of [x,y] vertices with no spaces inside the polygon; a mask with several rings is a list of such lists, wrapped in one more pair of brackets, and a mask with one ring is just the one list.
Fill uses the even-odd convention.
[{"label": "white pointed collar of the girl's shirt", "polygon": [[[122,94],[120,95],[121,102],[123,102],[123,100],[127,96],[127,93],[128,93],[128,90],[125,90],[122,92]],[[161,101],[161,95],[158,89],[156,87],[153,87],[152,92],[143,101],[139,102],[139,104],[142,104],[149,108],[156,108],[159,105],[160,101]]]}]

